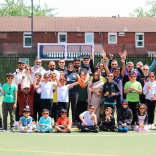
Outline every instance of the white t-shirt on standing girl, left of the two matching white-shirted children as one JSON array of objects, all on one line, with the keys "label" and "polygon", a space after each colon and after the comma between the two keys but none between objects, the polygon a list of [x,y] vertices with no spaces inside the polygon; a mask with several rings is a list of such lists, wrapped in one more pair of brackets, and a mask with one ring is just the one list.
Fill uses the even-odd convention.
[{"label": "white t-shirt on standing girl, left of the two matching white-shirted children", "polygon": [[40,82],[41,99],[53,99],[53,82]]}]

